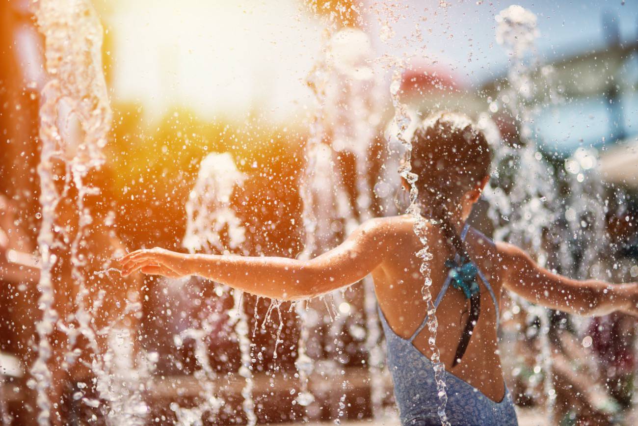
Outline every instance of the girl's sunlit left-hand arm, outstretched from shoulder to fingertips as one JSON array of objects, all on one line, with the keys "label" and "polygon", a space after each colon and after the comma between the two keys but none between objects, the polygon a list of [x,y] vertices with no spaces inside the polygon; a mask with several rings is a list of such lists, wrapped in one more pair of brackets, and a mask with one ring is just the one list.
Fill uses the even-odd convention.
[{"label": "girl's sunlit left-hand arm, outstretched from shoulder to fingertips", "polygon": [[366,221],[341,245],[311,260],[183,254],[154,248],[124,256],[122,275],[136,270],[168,277],[200,275],[263,297],[315,297],[356,283],[382,262],[383,247],[387,247],[383,223],[383,219]]}]

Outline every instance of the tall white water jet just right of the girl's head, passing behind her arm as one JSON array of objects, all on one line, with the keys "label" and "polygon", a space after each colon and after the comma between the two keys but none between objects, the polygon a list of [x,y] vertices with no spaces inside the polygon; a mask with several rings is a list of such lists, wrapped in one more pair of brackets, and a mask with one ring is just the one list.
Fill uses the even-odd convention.
[{"label": "tall white water jet just right of the girl's head, passing behind her arm", "polygon": [[[509,87],[501,93],[500,99],[512,117],[518,119],[519,139],[523,146],[503,141],[496,147],[494,174],[498,179],[506,180],[508,185],[488,185],[484,194],[490,203],[489,216],[496,224],[494,239],[525,247],[537,254],[539,264],[544,266],[548,255],[542,245],[543,234],[554,223],[554,206],[558,195],[552,179],[553,168],[531,140],[534,115],[531,99],[535,94],[531,74],[538,66],[533,55],[538,37],[537,18],[531,11],[514,5],[502,10],[495,19],[496,41],[511,58],[507,73]],[[528,60],[530,54],[531,61]],[[530,182],[534,184],[530,185]],[[505,204],[501,204],[503,202]],[[553,386],[551,343],[548,337],[551,312],[515,295],[512,297],[526,309],[528,315],[535,316],[540,321],[538,335],[541,350],[537,359],[545,373],[546,412],[549,421],[553,422],[551,413],[556,391]]]}]

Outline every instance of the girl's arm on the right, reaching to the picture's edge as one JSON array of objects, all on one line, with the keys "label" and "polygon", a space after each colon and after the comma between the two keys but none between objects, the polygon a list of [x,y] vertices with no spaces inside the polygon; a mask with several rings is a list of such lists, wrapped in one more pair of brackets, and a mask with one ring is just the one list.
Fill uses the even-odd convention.
[{"label": "girl's arm on the right, reaching to the picture's edge", "polygon": [[501,277],[508,290],[530,302],[584,316],[614,311],[638,314],[638,284],[577,281],[553,274],[512,244],[496,244],[501,257]]}]

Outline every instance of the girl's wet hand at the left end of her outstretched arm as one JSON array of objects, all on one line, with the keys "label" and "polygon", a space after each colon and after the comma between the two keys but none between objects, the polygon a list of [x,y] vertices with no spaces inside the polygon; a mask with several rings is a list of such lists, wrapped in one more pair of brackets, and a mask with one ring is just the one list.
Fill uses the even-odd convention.
[{"label": "girl's wet hand at the left end of her outstretched arm", "polygon": [[143,274],[181,278],[191,275],[187,267],[187,256],[160,247],[132,251],[119,260],[122,266],[121,274],[126,277],[139,270]]}]

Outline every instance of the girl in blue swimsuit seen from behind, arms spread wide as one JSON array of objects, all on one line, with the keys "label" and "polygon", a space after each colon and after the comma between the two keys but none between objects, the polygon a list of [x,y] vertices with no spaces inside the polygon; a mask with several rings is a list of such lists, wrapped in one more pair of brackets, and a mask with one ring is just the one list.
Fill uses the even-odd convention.
[{"label": "girl in blue swimsuit seen from behind, arms spread wide", "polygon": [[[489,179],[491,152],[470,119],[441,112],[413,138],[412,171],[436,295],[441,362],[452,425],[516,425],[505,387],[496,329],[501,289],[535,304],[579,315],[638,314],[638,286],[575,281],[538,266],[511,244],[493,242],[466,224]],[[406,185],[406,182],[404,182]],[[415,253],[422,244],[410,215],[363,223],[340,246],[311,260],[137,250],[121,259],[122,275],[140,270],[166,277],[200,275],[281,300],[312,298],[372,274],[388,348],[388,364],[404,425],[440,424],[430,332]]]}]

